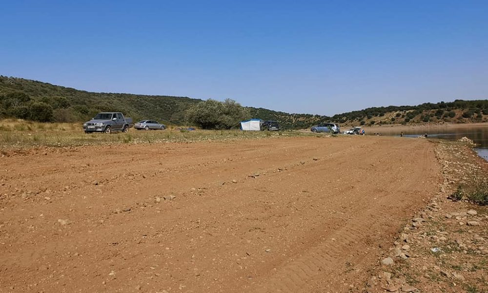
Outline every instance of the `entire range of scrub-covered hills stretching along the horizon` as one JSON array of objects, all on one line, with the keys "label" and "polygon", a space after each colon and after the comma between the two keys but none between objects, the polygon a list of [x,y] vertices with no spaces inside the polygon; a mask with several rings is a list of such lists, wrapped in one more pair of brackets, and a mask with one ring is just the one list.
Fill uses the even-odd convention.
[{"label": "entire range of scrub-covered hills stretching along the horizon", "polygon": [[[154,119],[183,125],[184,111],[200,99],[119,93],[93,93],[22,78],[0,76],[0,118],[81,122],[102,111],[123,112],[134,120]],[[320,122],[346,125],[472,123],[488,121],[488,100],[371,107],[332,117],[290,114],[248,107],[251,117],[276,120],[284,129],[303,129]],[[45,115],[46,113],[51,115]],[[49,114],[48,113],[48,114]],[[34,116],[33,116],[34,115]]]}]

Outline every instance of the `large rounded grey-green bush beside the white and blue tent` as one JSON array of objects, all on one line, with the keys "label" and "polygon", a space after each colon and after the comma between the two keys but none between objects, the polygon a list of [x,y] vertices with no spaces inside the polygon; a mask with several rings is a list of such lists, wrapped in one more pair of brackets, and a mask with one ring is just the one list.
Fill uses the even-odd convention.
[{"label": "large rounded grey-green bush beside the white and blue tent", "polygon": [[203,129],[230,129],[237,127],[239,122],[249,118],[249,110],[234,100],[224,102],[208,99],[190,106],[185,111],[189,124]]}]

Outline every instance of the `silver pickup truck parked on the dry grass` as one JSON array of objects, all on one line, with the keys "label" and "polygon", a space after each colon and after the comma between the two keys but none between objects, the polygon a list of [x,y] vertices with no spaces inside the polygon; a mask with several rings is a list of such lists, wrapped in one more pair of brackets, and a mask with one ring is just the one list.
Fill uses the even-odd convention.
[{"label": "silver pickup truck parked on the dry grass", "polygon": [[132,118],[124,118],[120,112],[98,113],[92,120],[83,123],[85,133],[112,131],[127,132],[132,126]]}]

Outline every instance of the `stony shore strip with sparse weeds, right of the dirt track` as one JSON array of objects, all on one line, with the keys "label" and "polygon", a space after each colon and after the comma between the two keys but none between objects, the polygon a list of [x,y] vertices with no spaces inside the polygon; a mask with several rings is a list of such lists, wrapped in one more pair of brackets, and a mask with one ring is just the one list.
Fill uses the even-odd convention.
[{"label": "stony shore strip with sparse weeds, right of the dirt track", "polygon": [[488,292],[488,209],[448,197],[488,162],[472,142],[437,142],[444,182],[426,207],[415,212],[398,239],[379,259],[364,291]]}]

